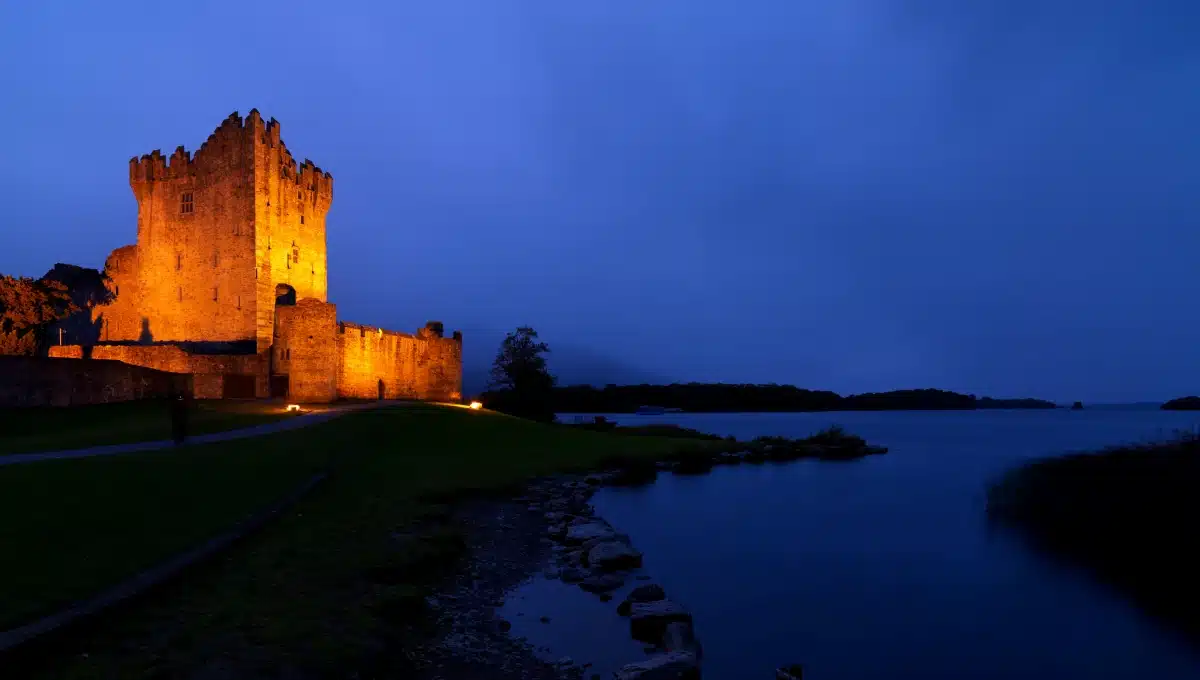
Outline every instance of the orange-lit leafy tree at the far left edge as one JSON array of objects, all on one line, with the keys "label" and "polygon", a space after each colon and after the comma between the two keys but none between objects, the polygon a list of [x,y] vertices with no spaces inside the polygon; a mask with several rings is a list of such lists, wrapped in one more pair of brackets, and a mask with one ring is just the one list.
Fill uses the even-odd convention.
[{"label": "orange-lit leafy tree at the far left edge", "polygon": [[59,281],[0,275],[0,354],[37,354],[47,329],[78,311]]}]

